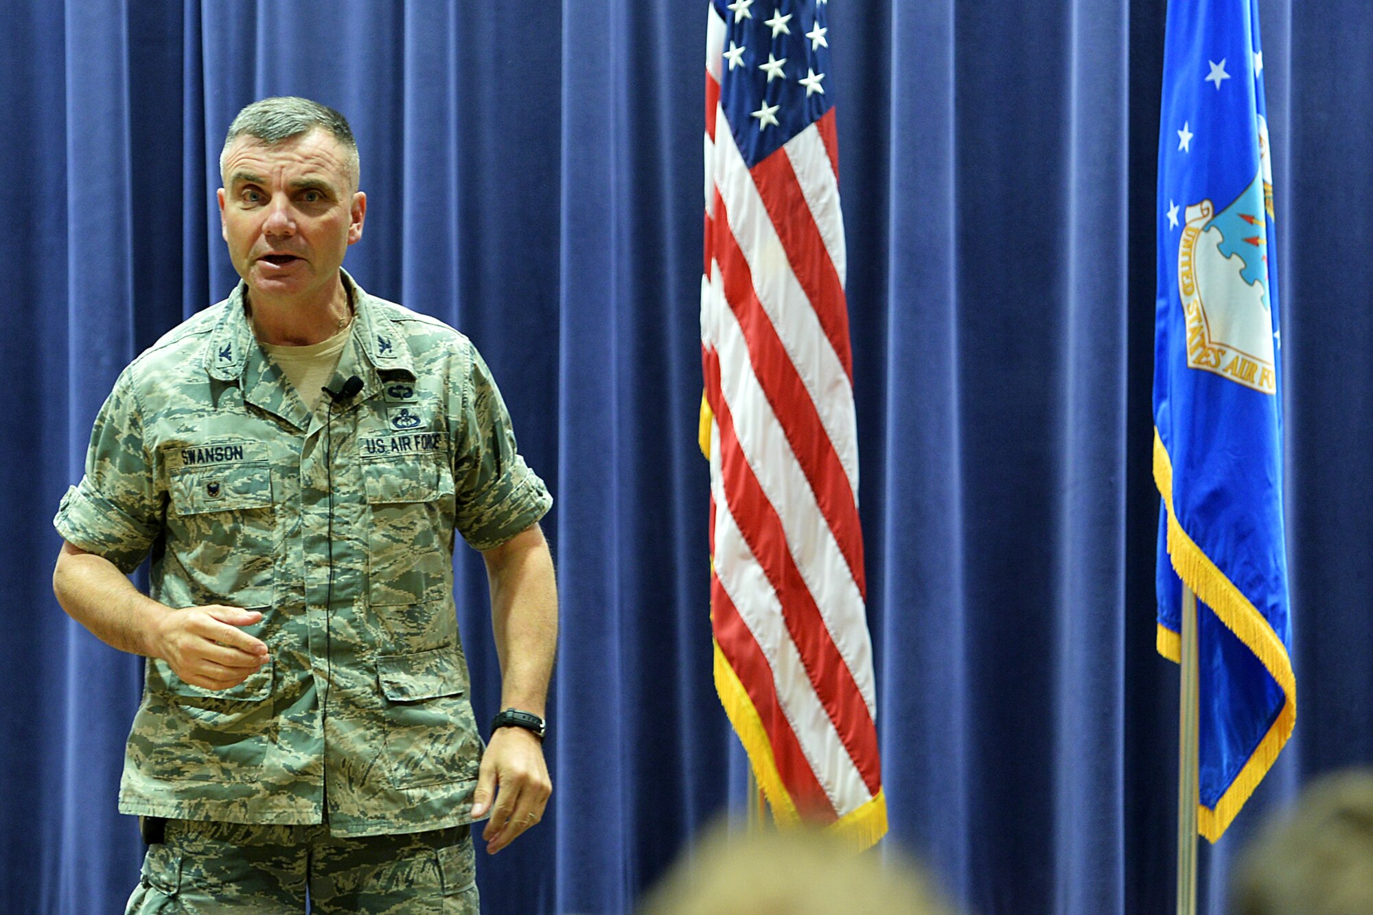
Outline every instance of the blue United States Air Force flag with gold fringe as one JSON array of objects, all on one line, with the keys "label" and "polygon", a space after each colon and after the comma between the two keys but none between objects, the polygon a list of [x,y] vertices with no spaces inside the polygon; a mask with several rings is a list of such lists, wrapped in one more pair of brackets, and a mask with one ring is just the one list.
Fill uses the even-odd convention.
[{"label": "blue United States Air Force flag with gold fringe", "polygon": [[1157,639],[1177,661],[1186,583],[1199,599],[1199,827],[1214,842],[1296,721],[1256,0],[1168,4],[1157,207]]}]

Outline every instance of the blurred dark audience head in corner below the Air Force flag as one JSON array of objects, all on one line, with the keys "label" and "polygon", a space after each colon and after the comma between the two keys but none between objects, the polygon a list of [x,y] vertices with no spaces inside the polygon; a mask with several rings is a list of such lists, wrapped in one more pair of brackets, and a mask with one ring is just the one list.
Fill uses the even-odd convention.
[{"label": "blurred dark audience head in corner below the Air Force flag", "polygon": [[1313,782],[1271,816],[1236,866],[1230,912],[1373,912],[1373,769]]}]

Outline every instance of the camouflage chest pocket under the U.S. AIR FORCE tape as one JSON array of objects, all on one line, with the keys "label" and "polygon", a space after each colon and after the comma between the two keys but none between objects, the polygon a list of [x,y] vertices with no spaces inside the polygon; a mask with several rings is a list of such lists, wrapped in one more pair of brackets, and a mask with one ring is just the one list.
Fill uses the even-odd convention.
[{"label": "camouflage chest pocket under the U.S. AIR FORCE tape", "polygon": [[362,464],[372,606],[441,600],[453,587],[453,470],[445,453]]}]

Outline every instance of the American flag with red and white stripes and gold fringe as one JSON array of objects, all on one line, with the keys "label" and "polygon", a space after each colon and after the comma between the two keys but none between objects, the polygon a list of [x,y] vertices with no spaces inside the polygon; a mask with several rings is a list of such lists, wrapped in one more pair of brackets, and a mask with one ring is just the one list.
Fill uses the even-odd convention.
[{"label": "American flag with red and white stripes and gold fringe", "polygon": [[702,449],[715,686],[780,823],[887,831],[825,0],[714,0]]}]

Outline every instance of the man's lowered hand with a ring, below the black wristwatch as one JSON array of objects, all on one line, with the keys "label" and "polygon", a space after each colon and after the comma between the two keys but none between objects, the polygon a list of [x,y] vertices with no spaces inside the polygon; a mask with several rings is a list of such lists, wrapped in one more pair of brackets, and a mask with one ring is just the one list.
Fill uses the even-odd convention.
[{"label": "man's lowered hand with a ring, below the black wristwatch", "polygon": [[544,819],[552,793],[553,782],[548,778],[542,742],[524,728],[497,728],[482,756],[472,797],[474,820],[492,811],[492,819],[482,831],[487,855],[501,850]]}]

